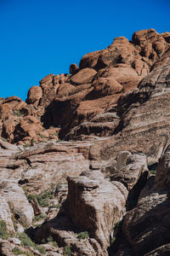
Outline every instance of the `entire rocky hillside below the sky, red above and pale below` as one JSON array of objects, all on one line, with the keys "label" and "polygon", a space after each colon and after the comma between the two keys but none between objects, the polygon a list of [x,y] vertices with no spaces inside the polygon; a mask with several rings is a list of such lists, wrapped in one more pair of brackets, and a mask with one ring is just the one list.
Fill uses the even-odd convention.
[{"label": "entire rocky hillside below the sky, red above and pale below", "polygon": [[70,73],[0,99],[0,254],[42,255],[27,234],[48,256],[168,255],[170,33]]}]

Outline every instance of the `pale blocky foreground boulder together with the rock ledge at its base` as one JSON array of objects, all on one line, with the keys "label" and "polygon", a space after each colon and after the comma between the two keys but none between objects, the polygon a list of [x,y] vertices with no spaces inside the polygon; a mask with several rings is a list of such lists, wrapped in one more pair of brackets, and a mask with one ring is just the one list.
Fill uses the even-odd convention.
[{"label": "pale blocky foreground boulder together with the rock ledge at its base", "polygon": [[51,235],[60,246],[71,247],[74,255],[107,256],[114,227],[125,212],[127,189],[105,180],[101,172],[86,175],[67,178],[65,205],[56,218],[37,230],[36,240]]}]

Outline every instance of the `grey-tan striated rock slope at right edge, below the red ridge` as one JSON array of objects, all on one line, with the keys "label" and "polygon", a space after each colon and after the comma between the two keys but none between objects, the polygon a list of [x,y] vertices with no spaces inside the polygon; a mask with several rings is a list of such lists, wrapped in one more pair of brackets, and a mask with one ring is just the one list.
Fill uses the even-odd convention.
[{"label": "grey-tan striated rock slope at right edge, below the red ridge", "polygon": [[170,61],[150,72],[137,90],[119,98],[115,136],[105,145],[96,143],[92,159],[107,159],[122,148],[143,152],[150,161],[160,158],[169,143],[169,78]]}]

